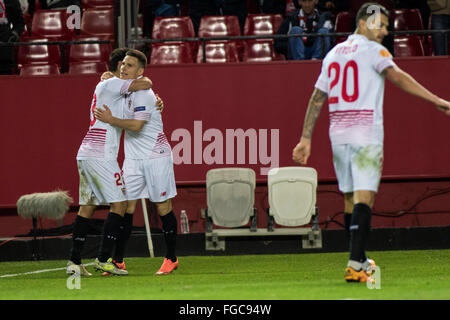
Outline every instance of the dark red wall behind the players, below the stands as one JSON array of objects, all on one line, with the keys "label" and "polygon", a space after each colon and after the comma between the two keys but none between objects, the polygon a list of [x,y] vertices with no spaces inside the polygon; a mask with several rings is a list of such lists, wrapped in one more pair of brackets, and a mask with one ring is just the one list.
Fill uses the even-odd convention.
[{"label": "dark red wall behind the players, below the stands", "polygon": [[[397,63],[431,91],[450,99],[448,57],[408,58]],[[200,146],[202,152],[211,143],[202,141],[207,129],[218,129],[223,135],[224,160],[226,129],[278,132],[278,165],[294,165],[292,148],[300,137],[319,71],[318,61],[151,66],[147,75],[165,101],[165,132],[172,147],[180,142],[171,138],[177,129],[175,132],[187,129],[184,132],[190,132],[192,138],[187,144],[192,163],[176,165],[177,182],[204,181],[209,169],[222,166],[206,165],[201,156],[199,163],[194,163],[195,148]],[[14,206],[22,194],[55,188],[69,190],[78,200],[75,156],[88,129],[97,80],[97,76],[72,75],[0,77],[1,207]],[[384,113],[384,179],[450,178],[450,118],[390,84],[386,86]],[[200,134],[194,133],[194,121],[201,121]],[[310,158],[310,166],[318,170],[322,182],[334,181],[327,126],[325,108],[316,126]],[[269,143],[269,155],[270,148]],[[231,165],[236,166],[236,161],[235,157]],[[249,161],[247,155],[242,166],[255,169],[258,181],[265,181],[259,173],[267,165],[261,164],[260,157],[254,165]]]}]

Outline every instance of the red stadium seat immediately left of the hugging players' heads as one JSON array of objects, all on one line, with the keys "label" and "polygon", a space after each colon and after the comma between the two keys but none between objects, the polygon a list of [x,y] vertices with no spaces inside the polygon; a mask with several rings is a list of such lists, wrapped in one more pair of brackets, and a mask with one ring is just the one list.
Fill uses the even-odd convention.
[{"label": "red stadium seat immediately left of the hugging players' heads", "polygon": [[[76,37],[73,41],[89,41],[100,40],[96,37]],[[111,53],[110,44],[72,44],[69,51],[69,62],[92,62],[92,61],[109,61],[109,54]]]}]

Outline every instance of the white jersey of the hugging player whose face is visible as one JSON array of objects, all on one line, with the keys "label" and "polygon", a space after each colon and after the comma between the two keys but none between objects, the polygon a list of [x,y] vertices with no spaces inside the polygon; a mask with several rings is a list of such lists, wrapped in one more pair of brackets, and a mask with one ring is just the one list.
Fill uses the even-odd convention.
[{"label": "white jersey of the hugging player whose face is visible", "polygon": [[125,130],[126,159],[154,159],[172,155],[164,134],[161,112],[156,108],[153,90],[131,93],[124,106],[124,119],[146,120],[139,132]]}]

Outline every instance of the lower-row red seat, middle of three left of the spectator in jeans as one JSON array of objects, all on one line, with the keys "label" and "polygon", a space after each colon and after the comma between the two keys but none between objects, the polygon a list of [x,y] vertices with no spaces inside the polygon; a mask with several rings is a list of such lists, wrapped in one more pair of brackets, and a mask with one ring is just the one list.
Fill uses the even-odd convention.
[{"label": "lower-row red seat, middle of three left of the spectator in jeans", "polygon": [[[208,41],[205,47],[207,63],[239,62],[237,46],[234,41]],[[197,63],[203,62],[203,49],[197,53]]]}]

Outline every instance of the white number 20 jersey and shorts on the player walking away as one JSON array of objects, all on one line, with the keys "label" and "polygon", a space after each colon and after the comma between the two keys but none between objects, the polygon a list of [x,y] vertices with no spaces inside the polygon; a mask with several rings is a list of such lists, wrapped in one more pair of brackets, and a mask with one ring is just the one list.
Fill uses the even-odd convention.
[{"label": "white number 20 jersey and shorts on the player walking away", "polygon": [[336,45],[322,63],[315,87],[328,95],[334,166],[344,193],[378,190],[384,137],[381,73],[393,66],[385,47],[359,34]]}]

